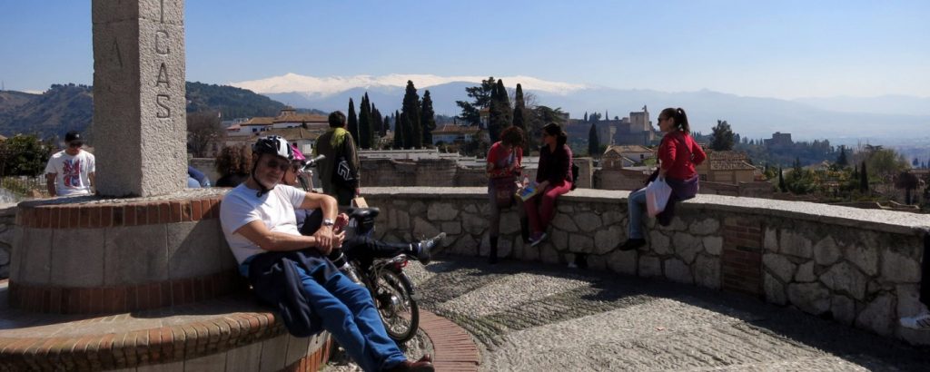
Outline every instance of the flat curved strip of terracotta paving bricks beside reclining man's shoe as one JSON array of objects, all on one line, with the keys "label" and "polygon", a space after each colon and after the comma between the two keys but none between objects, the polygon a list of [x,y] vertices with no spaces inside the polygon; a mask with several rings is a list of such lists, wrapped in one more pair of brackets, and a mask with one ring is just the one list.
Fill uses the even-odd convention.
[{"label": "flat curved strip of terracotta paving bricks beside reclining man's shoe", "polygon": [[419,328],[432,341],[437,371],[477,371],[481,354],[465,329],[432,312],[419,310]]}]

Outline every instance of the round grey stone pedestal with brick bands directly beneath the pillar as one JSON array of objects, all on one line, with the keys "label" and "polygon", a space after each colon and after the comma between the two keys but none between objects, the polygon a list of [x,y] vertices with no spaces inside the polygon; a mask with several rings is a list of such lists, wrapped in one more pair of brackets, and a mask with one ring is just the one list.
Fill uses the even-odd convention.
[{"label": "round grey stone pedestal with brick bands directly beneath the pillar", "polygon": [[10,306],[51,313],[133,312],[246,287],[219,227],[226,191],[20,203]]}]

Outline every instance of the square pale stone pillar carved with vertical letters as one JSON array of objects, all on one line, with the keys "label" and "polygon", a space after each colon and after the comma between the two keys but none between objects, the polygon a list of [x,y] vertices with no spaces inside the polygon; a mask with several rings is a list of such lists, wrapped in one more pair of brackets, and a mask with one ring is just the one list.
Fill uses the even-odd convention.
[{"label": "square pale stone pillar carved with vertical letters", "polygon": [[106,196],[187,185],[184,0],[93,0],[94,148]]}]

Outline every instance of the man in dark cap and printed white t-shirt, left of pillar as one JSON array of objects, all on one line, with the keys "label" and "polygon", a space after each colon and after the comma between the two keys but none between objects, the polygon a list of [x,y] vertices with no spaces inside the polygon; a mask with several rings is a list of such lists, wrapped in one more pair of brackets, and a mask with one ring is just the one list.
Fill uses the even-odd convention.
[{"label": "man in dark cap and printed white t-shirt, left of pillar", "polygon": [[55,153],[46,165],[46,187],[51,196],[89,195],[93,193],[94,154],[82,150],[84,139],[78,132],[64,136],[67,148]]}]

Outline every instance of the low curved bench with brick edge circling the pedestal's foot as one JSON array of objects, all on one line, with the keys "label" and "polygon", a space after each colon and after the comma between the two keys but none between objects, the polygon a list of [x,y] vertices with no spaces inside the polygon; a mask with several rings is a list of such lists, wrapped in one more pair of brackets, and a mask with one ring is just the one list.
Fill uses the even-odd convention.
[{"label": "low curved bench with brick edge circling the pedestal's foot", "polygon": [[294,338],[250,294],[100,317],[2,309],[0,371],[315,371],[332,340]]}]

